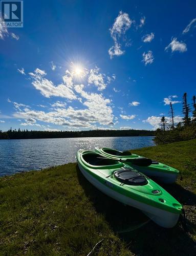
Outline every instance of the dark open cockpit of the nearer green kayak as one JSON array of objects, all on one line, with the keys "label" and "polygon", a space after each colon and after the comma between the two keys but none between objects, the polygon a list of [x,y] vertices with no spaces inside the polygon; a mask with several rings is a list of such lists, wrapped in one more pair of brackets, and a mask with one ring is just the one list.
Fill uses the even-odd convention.
[{"label": "dark open cockpit of the nearer green kayak", "polygon": [[94,154],[94,153],[83,155],[83,159],[87,163],[95,166],[113,165],[113,164],[119,163],[117,160],[105,158],[104,156]]}]

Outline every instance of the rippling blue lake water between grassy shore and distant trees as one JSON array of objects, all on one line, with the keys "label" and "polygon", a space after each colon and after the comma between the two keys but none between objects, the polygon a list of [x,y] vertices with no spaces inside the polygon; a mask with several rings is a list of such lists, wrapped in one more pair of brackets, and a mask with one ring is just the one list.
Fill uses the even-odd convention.
[{"label": "rippling blue lake water between grassy shore and distant trees", "polygon": [[96,146],[131,150],[153,146],[148,137],[93,137],[60,139],[0,140],[0,176],[76,161],[80,148],[94,150]]}]

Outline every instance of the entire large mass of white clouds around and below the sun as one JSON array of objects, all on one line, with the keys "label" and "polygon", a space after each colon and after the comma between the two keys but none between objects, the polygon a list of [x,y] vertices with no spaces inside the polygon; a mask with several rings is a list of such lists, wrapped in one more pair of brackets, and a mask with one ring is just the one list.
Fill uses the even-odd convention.
[{"label": "entire large mass of white clouds around and below the sun", "polygon": [[[51,103],[50,109],[45,109],[45,111],[34,110],[33,107],[23,103],[12,102],[16,110],[13,116],[24,119],[21,125],[38,126],[40,124],[37,121],[66,126],[67,129],[70,127],[73,127],[73,129],[95,129],[98,127],[98,124],[114,125],[111,100],[105,98],[102,94],[88,93],[85,91],[85,88],[91,83],[97,87],[98,91],[103,90],[108,83],[115,79],[114,74],[109,77],[106,74],[100,73],[99,69],[95,67],[95,69],[88,71],[88,76],[86,75],[85,77],[85,86],[83,84],[77,84],[74,79],[74,72],[69,70],[62,76],[62,84],[58,84],[57,86],[46,78],[47,73],[44,70],[37,68],[34,72],[29,73],[29,75],[32,79],[33,86],[43,96],[47,98],[52,96],[67,98],[68,101],[74,99],[82,104],[82,109],[67,106],[66,102],[59,100]],[[34,120],[30,120],[29,118]]]}]

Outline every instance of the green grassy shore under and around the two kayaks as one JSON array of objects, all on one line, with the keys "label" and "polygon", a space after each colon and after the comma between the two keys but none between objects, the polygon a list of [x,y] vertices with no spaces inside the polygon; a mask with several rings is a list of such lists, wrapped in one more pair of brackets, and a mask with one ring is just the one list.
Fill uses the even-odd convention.
[{"label": "green grassy shore under and around the two kayaks", "polygon": [[0,255],[193,255],[196,246],[196,140],[134,150],[181,170],[162,185],[184,205],[181,223],[164,229],[137,209],[108,198],[77,164],[0,179]]}]

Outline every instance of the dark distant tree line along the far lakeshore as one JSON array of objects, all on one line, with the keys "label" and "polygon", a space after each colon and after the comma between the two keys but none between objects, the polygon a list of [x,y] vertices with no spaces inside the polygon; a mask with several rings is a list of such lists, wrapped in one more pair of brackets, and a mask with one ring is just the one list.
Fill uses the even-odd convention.
[{"label": "dark distant tree line along the far lakeshore", "polygon": [[47,139],[47,138],[77,138],[77,137],[125,137],[125,136],[154,136],[155,131],[147,130],[91,130],[91,131],[0,131],[0,139]]}]

